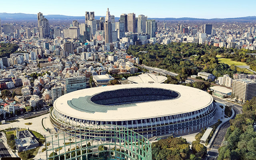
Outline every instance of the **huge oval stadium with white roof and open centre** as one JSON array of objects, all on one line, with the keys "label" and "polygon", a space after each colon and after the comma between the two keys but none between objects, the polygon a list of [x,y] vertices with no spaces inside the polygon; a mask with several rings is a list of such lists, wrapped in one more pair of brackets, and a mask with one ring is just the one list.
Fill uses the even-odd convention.
[{"label": "huge oval stadium with white roof and open centre", "polygon": [[145,138],[186,135],[208,127],[212,96],[183,85],[141,83],[95,87],[59,97],[50,111],[57,131],[118,125]]}]

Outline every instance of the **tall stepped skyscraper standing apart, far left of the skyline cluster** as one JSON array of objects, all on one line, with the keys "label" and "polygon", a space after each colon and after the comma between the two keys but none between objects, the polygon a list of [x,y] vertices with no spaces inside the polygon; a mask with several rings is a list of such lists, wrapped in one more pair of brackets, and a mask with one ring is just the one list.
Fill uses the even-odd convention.
[{"label": "tall stepped skyscraper standing apart, far left of the skyline cluster", "polygon": [[44,18],[43,14],[39,12],[37,14],[38,21],[38,30],[39,30],[39,38],[46,38],[50,36],[50,27],[49,22],[46,18]]}]

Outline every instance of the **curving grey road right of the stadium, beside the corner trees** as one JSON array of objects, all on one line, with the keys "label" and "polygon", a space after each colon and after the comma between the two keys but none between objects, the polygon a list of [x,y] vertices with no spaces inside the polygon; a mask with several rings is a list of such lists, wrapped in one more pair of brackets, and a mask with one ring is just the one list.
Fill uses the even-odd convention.
[{"label": "curving grey road right of the stadium, beside the corner trees", "polygon": [[[219,99],[216,97],[213,97],[213,99],[215,101],[219,101],[220,103],[224,103],[228,106],[232,106],[232,108],[235,111],[235,115],[234,117],[232,117],[232,119],[234,119],[236,117],[237,114],[241,114],[242,113],[242,107],[240,105],[235,105],[233,103],[227,102],[223,99]],[[220,148],[220,146],[222,145],[222,142],[224,140],[224,137],[226,135],[227,129],[230,126],[230,122],[225,122],[224,124],[222,124],[222,126],[220,127],[220,129],[218,130],[212,145],[210,146],[210,151],[208,152],[208,158],[206,158],[207,160],[215,160],[217,159],[218,156],[218,149]]]}]

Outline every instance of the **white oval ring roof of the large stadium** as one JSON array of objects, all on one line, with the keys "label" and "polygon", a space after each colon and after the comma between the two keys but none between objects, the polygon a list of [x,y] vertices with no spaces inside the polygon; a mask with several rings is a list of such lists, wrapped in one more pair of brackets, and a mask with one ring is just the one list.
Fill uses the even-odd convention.
[{"label": "white oval ring roof of the large stadium", "polygon": [[[92,96],[104,91],[113,91],[117,89],[136,89],[136,88],[160,88],[169,89],[180,93],[180,97],[176,99],[168,99],[161,101],[147,101],[135,103],[130,107],[121,107],[117,110],[108,110],[106,113],[95,112],[87,113],[79,111],[68,105],[68,101],[78,99],[79,97]],[[120,121],[120,120],[136,120],[148,119],[154,117],[163,117],[168,115],[176,115],[203,109],[212,104],[212,96],[208,93],[183,85],[159,84],[159,83],[140,83],[128,85],[114,85],[105,87],[95,87],[74,91],[59,97],[54,102],[54,108],[59,113],[68,115],[73,118],[97,120],[97,121]],[[108,106],[106,106],[108,107]]]}]

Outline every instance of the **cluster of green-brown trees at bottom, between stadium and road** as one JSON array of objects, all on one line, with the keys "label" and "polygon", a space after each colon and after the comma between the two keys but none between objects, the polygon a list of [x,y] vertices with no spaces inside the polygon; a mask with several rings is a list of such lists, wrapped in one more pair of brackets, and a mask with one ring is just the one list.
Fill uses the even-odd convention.
[{"label": "cluster of green-brown trees at bottom, between stadium and road", "polygon": [[206,147],[199,141],[192,142],[192,149],[185,138],[169,137],[152,143],[153,160],[200,160]]}]

